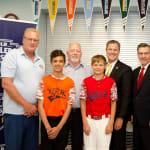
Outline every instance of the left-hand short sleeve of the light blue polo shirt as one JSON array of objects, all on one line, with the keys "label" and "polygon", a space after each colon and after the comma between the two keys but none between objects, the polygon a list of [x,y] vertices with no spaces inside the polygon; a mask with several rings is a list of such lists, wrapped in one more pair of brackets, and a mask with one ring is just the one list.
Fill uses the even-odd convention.
[{"label": "left-hand short sleeve of the light blue polo shirt", "polygon": [[16,73],[16,55],[15,52],[8,52],[1,64],[1,77],[14,77]]}]

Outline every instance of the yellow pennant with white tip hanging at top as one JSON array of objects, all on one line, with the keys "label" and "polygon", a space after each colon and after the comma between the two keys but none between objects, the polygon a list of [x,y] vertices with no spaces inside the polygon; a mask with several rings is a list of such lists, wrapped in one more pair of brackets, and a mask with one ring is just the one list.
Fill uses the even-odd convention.
[{"label": "yellow pennant with white tip hanging at top", "polygon": [[49,6],[49,18],[50,18],[50,24],[51,24],[51,32],[54,31],[54,25],[55,25],[55,19],[57,14],[57,8],[58,8],[59,0],[48,0],[48,6]]}]

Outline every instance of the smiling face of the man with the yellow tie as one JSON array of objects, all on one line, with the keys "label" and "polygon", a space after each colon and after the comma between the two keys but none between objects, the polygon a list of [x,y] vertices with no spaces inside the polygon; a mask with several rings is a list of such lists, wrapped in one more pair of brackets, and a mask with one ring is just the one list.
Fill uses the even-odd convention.
[{"label": "smiling face of the man with the yellow tie", "polygon": [[120,53],[120,50],[119,50],[118,44],[116,43],[108,44],[107,49],[106,49],[106,55],[107,55],[109,63],[116,61],[119,57],[119,53]]}]

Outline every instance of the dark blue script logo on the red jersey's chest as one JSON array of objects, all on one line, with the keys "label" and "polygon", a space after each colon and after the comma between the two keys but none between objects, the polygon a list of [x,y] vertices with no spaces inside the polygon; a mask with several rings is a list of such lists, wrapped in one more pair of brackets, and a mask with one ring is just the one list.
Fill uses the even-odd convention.
[{"label": "dark blue script logo on the red jersey's chest", "polygon": [[96,91],[96,92],[89,92],[88,95],[89,95],[90,101],[94,101],[97,98],[108,97],[107,92],[102,92],[101,90]]}]

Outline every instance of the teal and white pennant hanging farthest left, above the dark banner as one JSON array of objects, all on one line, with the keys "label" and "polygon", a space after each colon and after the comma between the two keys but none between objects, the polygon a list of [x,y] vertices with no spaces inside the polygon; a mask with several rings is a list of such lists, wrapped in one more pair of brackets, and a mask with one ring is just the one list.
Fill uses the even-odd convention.
[{"label": "teal and white pennant hanging farthest left, above the dark banner", "polygon": [[41,3],[42,0],[32,0],[32,8],[33,8],[33,19],[34,22],[39,22],[40,12],[41,12]]}]

